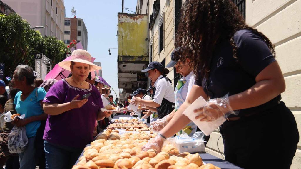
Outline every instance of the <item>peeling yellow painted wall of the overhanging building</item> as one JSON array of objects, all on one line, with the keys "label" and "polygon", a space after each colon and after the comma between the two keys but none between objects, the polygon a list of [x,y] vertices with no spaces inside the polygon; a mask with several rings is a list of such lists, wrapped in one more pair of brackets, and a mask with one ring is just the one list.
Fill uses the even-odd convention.
[{"label": "peeling yellow painted wall of the overhanging building", "polygon": [[[118,13],[118,56],[147,57],[148,61],[148,22],[147,15]],[[128,58],[128,57],[127,57]],[[119,60],[122,57],[119,57]],[[122,60],[120,60],[122,61]]]}]

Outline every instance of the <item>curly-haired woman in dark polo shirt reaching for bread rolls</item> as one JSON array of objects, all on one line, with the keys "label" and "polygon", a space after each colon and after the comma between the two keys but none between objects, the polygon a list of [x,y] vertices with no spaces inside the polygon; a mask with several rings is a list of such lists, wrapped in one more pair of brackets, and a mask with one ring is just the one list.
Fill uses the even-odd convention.
[{"label": "curly-haired woman in dark polo shirt reaching for bread rolls", "polygon": [[[160,151],[189,118],[184,110],[202,96],[197,119],[227,120],[220,127],[226,161],[243,168],[290,168],[299,134],[292,112],[281,100],[285,81],[274,45],[246,25],[230,0],[187,0],[176,46],[190,58],[196,82],[172,120],[145,146]],[[185,58],[180,58],[183,60]]]}]

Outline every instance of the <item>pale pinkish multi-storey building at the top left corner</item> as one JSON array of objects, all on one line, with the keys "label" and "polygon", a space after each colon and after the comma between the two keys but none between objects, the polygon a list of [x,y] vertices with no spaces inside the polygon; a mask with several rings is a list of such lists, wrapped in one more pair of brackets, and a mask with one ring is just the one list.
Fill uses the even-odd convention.
[{"label": "pale pinkish multi-storey building at the top left corner", "polygon": [[31,27],[44,26],[37,29],[42,36],[54,36],[64,40],[64,0],[2,0],[9,5]]}]

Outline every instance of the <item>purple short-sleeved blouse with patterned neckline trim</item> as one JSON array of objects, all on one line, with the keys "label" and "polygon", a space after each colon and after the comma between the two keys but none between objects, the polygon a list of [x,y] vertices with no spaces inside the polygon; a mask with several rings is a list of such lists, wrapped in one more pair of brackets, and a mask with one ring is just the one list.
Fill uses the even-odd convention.
[{"label": "purple short-sleeved blouse with patterned neckline trim", "polygon": [[104,107],[95,86],[90,84],[90,89],[76,88],[62,79],[50,88],[43,102],[67,103],[78,94],[81,97],[88,93],[91,93],[91,96],[81,108],[71,109],[59,115],[48,115],[44,140],[55,145],[74,148],[84,148],[91,143],[97,114]]}]

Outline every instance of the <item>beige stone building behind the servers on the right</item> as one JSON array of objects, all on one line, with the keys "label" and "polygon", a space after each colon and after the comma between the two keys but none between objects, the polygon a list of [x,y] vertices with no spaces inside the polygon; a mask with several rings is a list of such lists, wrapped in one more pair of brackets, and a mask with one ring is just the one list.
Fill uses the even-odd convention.
[{"label": "beige stone building behind the servers on the right", "polygon": [[[167,64],[170,61],[170,53],[175,48],[175,32],[179,17],[177,14],[185,0],[148,2],[149,4],[147,1],[138,0],[136,13],[142,12],[150,16],[150,61]],[[282,101],[293,112],[301,136],[301,0],[233,0],[233,2],[245,17],[246,23],[263,32],[275,45],[276,59],[286,81]],[[173,69],[170,71],[168,76],[175,84],[177,75]],[[220,136],[217,129],[211,134],[206,152],[222,158],[224,147]],[[301,138],[291,168],[297,169],[300,166]]]}]

